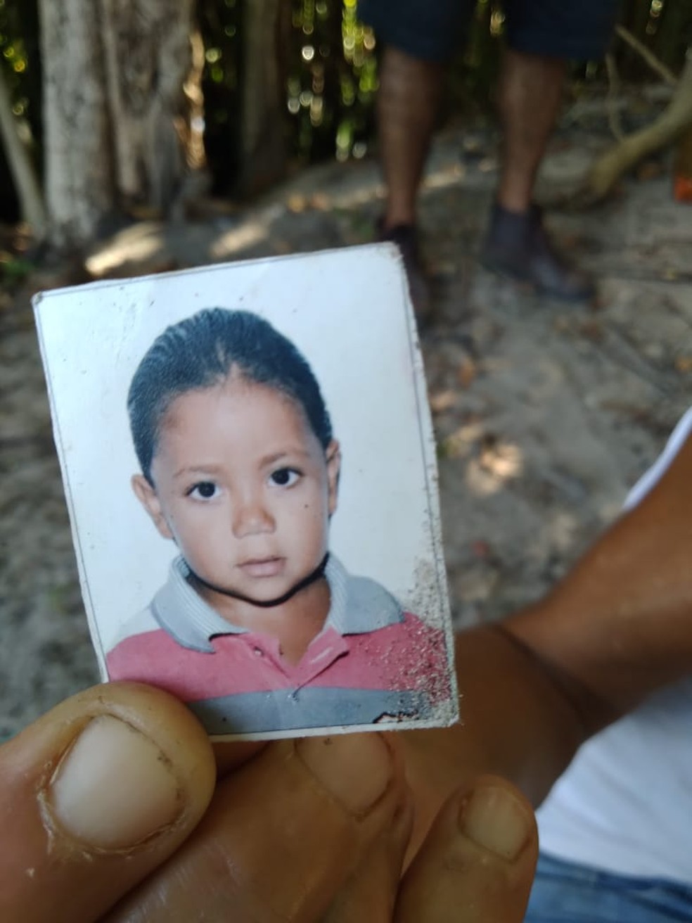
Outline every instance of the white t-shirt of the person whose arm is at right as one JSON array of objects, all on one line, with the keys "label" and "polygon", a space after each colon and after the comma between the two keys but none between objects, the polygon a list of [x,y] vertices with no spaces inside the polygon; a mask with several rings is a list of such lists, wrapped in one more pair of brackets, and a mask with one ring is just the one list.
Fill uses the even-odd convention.
[{"label": "white t-shirt of the person whose arm is at right", "polygon": [[[625,509],[656,484],[690,431],[692,408]],[[538,820],[541,848],[551,856],[692,885],[692,676],[587,741]]]}]

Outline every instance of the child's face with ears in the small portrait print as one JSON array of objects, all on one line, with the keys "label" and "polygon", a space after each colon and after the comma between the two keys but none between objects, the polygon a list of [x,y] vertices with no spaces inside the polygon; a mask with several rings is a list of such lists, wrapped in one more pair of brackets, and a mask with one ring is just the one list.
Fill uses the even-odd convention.
[{"label": "child's face with ears in the small portrait print", "polygon": [[161,421],[152,487],[133,478],[159,532],[203,581],[278,599],[327,553],[339,445],[322,449],[302,409],[240,378],[176,398]]}]

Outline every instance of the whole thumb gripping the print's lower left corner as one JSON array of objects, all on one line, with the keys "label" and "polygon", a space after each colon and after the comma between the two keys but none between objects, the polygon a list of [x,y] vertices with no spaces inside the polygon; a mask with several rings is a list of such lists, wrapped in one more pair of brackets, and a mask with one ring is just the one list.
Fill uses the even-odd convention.
[{"label": "whole thumb gripping the print's lower left corner", "polygon": [[214,782],[207,735],[160,689],[62,702],[0,747],[0,919],[97,919],[185,840]]}]

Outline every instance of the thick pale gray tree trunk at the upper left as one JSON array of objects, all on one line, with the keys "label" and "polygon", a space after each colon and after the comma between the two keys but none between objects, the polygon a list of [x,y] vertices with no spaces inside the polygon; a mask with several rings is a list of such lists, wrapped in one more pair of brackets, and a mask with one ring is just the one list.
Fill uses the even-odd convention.
[{"label": "thick pale gray tree trunk at the upper left", "polygon": [[51,242],[80,249],[114,213],[164,210],[180,187],[192,0],[39,8]]}]

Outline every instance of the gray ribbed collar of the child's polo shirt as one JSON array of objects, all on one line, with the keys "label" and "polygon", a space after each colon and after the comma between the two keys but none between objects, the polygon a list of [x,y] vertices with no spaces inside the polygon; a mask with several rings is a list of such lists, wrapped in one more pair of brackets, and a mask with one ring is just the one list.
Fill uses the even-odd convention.
[{"label": "gray ribbed collar of the child's polo shirt", "polygon": [[[151,601],[150,610],[161,628],[183,647],[213,652],[210,639],[220,634],[245,634],[248,629],[233,625],[206,603],[190,586],[190,569],[183,557],[171,564],[168,580]],[[366,634],[400,622],[401,606],[369,577],[352,577],[340,560],[329,555],[325,567],[331,602],[325,629],[340,635]]]}]

